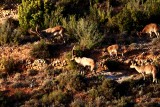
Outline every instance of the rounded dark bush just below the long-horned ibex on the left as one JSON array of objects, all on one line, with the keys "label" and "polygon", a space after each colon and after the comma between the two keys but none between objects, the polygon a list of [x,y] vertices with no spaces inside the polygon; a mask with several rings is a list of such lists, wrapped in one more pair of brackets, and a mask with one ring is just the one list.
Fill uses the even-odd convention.
[{"label": "rounded dark bush just below the long-horned ibex on the left", "polygon": [[44,41],[40,41],[38,44],[33,45],[30,55],[33,58],[40,59],[49,58],[51,56],[48,45]]}]

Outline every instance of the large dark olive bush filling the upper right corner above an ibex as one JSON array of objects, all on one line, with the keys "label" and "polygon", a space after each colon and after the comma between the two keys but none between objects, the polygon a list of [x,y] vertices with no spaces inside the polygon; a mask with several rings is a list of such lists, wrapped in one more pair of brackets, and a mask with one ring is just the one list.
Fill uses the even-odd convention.
[{"label": "large dark olive bush filling the upper right corner above an ibex", "polygon": [[107,25],[115,28],[115,31],[118,28],[118,32],[141,30],[149,22],[158,22],[159,4],[159,1],[151,0],[147,0],[145,3],[137,0],[128,1],[125,7],[108,21]]}]

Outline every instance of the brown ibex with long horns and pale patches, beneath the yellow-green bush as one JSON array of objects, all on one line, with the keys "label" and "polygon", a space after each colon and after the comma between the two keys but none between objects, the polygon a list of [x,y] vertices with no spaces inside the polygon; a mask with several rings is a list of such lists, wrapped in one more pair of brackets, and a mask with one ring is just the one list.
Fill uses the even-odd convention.
[{"label": "brown ibex with long horns and pale patches, beneath the yellow-green bush", "polygon": [[[64,32],[65,32],[65,28],[62,26],[55,26],[53,28],[47,28],[45,30],[42,31],[38,31],[38,26],[36,26],[36,31],[33,31],[32,29],[29,30],[29,33],[33,33],[36,34],[37,36],[39,36],[40,38],[44,38],[44,35],[50,35],[53,34],[54,36],[60,35],[61,38],[63,39],[63,42],[65,43],[65,38],[64,38]],[[50,36],[51,37],[51,36]]]}]

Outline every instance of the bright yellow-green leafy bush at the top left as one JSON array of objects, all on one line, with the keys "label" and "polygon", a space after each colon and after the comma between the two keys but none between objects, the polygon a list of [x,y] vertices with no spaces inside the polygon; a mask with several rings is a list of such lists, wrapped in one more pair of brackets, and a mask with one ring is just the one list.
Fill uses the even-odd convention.
[{"label": "bright yellow-green leafy bush at the top left", "polygon": [[42,28],[58,24],[63,8],[56,7],[55,4],[56,2],[50,0],[22,0],[18,15],[23,32],[28,28],[35,28],[37,24]]}]

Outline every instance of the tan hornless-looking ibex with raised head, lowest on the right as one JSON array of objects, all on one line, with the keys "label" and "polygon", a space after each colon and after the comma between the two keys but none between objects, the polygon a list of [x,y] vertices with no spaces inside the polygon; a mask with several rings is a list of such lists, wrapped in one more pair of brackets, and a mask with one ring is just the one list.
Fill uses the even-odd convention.
[{"label": "tan hornless-looking ibex with raised head, lowest on the right", "polygon": [[152,74],[153,82],[157,83],[157,79],[156,79],[157,69],[154,65],[137,66],[132,62],[132,64],[130,65],[130,68],[135,68],[137,72],[141,73],[143,75],[144,80],[145,80],[145,74]]}]

